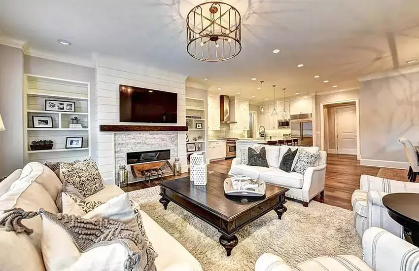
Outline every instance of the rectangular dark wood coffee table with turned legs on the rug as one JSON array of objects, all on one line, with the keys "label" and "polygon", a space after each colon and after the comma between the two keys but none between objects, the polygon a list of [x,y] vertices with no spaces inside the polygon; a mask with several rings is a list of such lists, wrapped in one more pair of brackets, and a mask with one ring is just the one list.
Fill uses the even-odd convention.
[{"label": "rectangular dark wood coffee table with turned legs on the rug", "polygon": [[287,188],[266,184],[263,198],[244,199],[228,197],[224,194],[223,182],[229,176],[212,172],[208,174],[206,186],[194,186],[189,177],[161,182],[160,203],[165,210],[173,201],[193,215],[204,220],[221,233],[220,244],[230,256],[239,239],[234,234],[250,222],[274,210],[281,219],[286,207],[285,192]]}]

